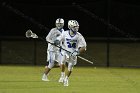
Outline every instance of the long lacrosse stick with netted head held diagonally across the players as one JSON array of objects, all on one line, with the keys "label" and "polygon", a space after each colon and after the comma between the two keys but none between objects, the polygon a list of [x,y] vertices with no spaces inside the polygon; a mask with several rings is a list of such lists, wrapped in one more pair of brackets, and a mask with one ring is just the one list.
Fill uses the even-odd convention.
[{"label": "long lacrosse stick with netted head held diagonally across the players", "polygon": [[[25,33],[25,35],[26,35],[26,37],[27,38],[39,38],[35,33],[33,33],[31,30],[27,30],[26,31],[26,33]],[[42,38],[41,38],[42,39]],[[47,43],[50,43],[50,44],[52,44],[52,45],[54,45],[54,46],[56,46],[56,47],[58,47],[58,48],[61,48],[62,50],[65,50],[66,52],[69,52],[69,53],[71,53],[70,51],[68,51],[68,50],[66,50],[66,49],[64,49],[64,48],[62,48],[62,47],[60,47],[60,46],[57,46],[57,45],[55,45],[54,43],[51,43],[51,42],[49,42],[49,41],[46,41]],[[78,58],[80,58],[80,59],[82,59],[82,60],[84,60],[84,61],[86,61],[86,62],[88,62],[88,63],[90,63],[90,64],[93,64],[93,62],[92,61],[90,61],[90,60],[88,60],[88,59],[86,59],[86,58],[83,58],[83,57],[81,57],[81,56],[77,56]]]}]

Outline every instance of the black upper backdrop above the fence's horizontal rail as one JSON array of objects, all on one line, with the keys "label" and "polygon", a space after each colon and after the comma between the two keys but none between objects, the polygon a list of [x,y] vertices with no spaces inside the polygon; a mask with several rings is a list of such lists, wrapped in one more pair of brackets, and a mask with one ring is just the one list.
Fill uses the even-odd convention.
[{"label": "black upper backdrop above the fence's horizontal rail", "polygon": [[31,29],[46,36],[58,17],[80,24],[85,37],[139,38],[138,0],[2,0],[0,37],[25,35]]}]

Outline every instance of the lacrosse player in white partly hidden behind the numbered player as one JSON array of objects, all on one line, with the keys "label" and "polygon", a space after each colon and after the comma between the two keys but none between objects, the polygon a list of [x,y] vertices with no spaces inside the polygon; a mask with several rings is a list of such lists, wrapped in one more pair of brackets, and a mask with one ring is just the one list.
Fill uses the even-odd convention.
[{"label": "lacrosse player in white partly hidden behind the numbered player", "polygon": [[[49,62],[48,66],[45,66],[45,71],[42,76],[43,81],[49,81],[48,79],[48,73],[54,66],[54,62],[57,61],[58,64],[60,64],[60,48],[56,47],[56,45],[60,45],[59,42],[56,40],[58,36],[61,35],[61,33],[64,31],[64,20],[62,18],[58,18],[55,22],[56,27],[52,28],[49,32],[49,34],[46,36],[46,41],[51,42],[52,44],[48,43],[48,49],[47,49],[47,61]],[[65,68],[63,67],[63,70]],[[62,71],[63,71],[62,70]],[[64,76],[64,71],[61,73],[61,76]]]}]

